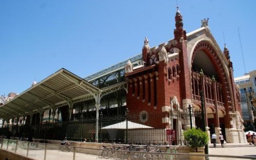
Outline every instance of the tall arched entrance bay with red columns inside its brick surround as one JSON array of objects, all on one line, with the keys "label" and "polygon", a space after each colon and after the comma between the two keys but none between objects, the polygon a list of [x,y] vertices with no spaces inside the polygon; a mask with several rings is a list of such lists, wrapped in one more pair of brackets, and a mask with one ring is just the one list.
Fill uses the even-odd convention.
[{"label": "tall arched entrance bay with red columns inside its brick surround", "polygon": [[[230,85],[224,65],[210,42],[202,40],[195,44],[191,59],[192,96],[194,104],[200,105],[199,93],[200,90],[204,90],[206,126],[210,127],[210,134],[218,133],[220,128],[222,131],[230,128],[229,116],[225,113],[232,111],[228,100],[231,99],[231,95],[228,94]],[[203,77],[201,77],[201,71],[204,73]]]}]

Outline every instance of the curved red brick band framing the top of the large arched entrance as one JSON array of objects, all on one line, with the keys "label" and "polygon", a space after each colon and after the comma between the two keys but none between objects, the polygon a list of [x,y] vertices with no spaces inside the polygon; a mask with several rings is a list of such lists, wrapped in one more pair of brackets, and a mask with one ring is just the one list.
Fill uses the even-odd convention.
[{"label": "curved red brick band framing the top of the large arched entrance", "polygon": [[[202,50],[211,60],[212,64],[214,65],[214,69],[219,76],[224,94],[224,105],[226,112],[234,112],[234,102],[232,96],[231,81],[229,78],[229,70],[225,62],[226,59],[224,59],[224,56],[221,55],[223,53],[220,52],[220,49],[217,47],[218,46],[214,46],[210,40],[206,39],[202,39],[196,42],[190,53],[190,69],[192,69],[192,64],[196,53]],[[226,118],[226,124],[230,125],[230,117],[228,114],[226,114]],[[231,126],[228,126],[227,128],[230,127]]]}]

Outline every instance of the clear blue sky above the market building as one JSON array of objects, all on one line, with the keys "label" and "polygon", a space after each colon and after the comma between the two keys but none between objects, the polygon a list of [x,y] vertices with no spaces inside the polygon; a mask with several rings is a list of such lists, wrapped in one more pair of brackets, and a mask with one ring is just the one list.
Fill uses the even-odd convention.
[{"label": "clear blue sky above the market building", "polygon": [[[256,0],[178,0],[184,28],[209,18],[213,36],[230,50],[234,76],[256,69]],[[174,37],[176,0],[1,0],[0,95],[21,93],[60,68],[80,77]]]}]

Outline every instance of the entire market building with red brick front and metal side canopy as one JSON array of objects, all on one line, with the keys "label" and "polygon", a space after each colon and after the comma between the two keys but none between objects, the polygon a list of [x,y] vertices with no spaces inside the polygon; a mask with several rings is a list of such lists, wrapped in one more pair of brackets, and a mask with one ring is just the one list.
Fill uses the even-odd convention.
[{"label": "entire market building with red brick front and metal side canopy", "polygon": [[186,33],[177,8],[174,39],[150,48],[145,38],[142,54],[86,78],[62,68],[33,83],[0,107],[4,121],[25,118],[2,135],[182,145],[184,130],[202,128],[203,102],[209,136],[245,142],[229,50],[201,23]]}]

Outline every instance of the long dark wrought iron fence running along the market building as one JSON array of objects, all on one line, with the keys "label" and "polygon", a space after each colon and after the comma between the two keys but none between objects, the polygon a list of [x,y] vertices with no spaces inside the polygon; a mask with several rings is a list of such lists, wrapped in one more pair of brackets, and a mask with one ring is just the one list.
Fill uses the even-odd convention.
[{"label": "long dark wrought iron fence running along the market building", "polygon": [[[191,119],[191,120],[190,120]],[[201,128],[201,112],[187,109],[162,113],[123,114],[99,118],[99,142],[116,144],[169,144],[184,145],[183,132],[190,126]],[[13,126],[0,128],[0,135],[20,139],[39,138],[95,142],[96,119],[45,123],[41,126]]]}]

